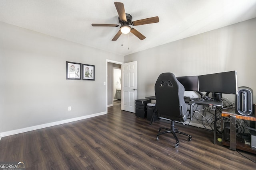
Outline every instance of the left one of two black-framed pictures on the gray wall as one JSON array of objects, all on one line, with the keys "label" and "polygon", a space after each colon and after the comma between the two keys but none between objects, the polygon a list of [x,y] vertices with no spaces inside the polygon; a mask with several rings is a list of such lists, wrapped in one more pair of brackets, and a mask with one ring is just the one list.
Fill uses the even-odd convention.
[{"label": "left one of two black-framed pictures on the gray wall", "polygon": [[81,80],[81,63],[66,62],[66,79]]}]

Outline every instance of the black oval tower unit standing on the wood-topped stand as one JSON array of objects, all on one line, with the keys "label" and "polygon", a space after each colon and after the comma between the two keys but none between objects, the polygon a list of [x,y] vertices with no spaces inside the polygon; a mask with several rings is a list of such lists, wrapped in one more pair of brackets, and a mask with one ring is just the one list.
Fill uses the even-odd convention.
[{"label": "black oval tower unit standing on the wood-topped stand", "polygon": [[249,116],[253,113],[253,91],[248,87],[239,87],[236,95],[236,113]]}]

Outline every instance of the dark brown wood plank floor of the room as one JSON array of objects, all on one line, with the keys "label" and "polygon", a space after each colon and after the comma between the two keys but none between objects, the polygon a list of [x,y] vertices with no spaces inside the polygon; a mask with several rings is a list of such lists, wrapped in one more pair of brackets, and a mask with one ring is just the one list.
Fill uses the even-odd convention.
[{"label": "dark brown wood plank floor of the room", "polygon": [[214,145],[210,131],[176,123],[192,135],[187,141],[178,134],[176,149],[171,134],[156,140],[160,126],[170,123],[149,125],[116,105],[108,107],[107,115],[3,137],[0,162],[23,161],[26,170],[255,170],[255,154]]}]

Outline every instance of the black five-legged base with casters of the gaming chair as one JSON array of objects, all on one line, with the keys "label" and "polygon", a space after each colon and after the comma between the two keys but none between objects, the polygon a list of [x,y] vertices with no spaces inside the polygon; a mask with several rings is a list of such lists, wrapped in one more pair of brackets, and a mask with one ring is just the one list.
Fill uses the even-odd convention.
[{"label": "black five-legged base with casters of the gaming chair", "polygon": [[[166,131],[161,132],[162,129],[165,129]],[[182,135],[186,135],[188,137],[188,141],[192,140],[192,137],[190,135],[188,135],[186,133],[183,133],[183,132],[180,132],[180,131],[178,131],[178,128],[174,127],[174,121],[171,121],[171,128],[170,129],[168,129],[166,127],[160,127],[158,129],[158,132],[161,132],[161,133],[157,134],[157,137],[156,137],[157,141],[159,141],[159,135],[162,135],[162,134],[165,134],[165,133],[172,133],[172,135],[174,136],[174,138],[176,140],[176,144],[174,145],[175,148],[178,148],[179,147],[179,143],[180,143],[176,133],[179,133],[179,134],[182,134]]]}]

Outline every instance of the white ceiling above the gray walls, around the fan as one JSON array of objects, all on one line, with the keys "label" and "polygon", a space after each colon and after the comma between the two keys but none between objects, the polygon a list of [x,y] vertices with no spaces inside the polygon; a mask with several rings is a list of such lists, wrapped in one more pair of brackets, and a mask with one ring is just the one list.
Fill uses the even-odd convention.
[{"label": "white ceiling above the gray walls, around the fan", "polygon": [[[154,16],[160,21],[132,26],[144,40],[129,33],[111,41],[119,27],[91,24],[119,24],[115,1],[124,3],[133,21]],[[256,0],[0,0],[2,22],[120,55],[252,18]]]}]

